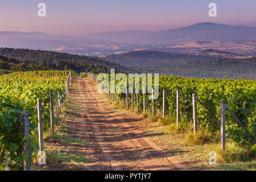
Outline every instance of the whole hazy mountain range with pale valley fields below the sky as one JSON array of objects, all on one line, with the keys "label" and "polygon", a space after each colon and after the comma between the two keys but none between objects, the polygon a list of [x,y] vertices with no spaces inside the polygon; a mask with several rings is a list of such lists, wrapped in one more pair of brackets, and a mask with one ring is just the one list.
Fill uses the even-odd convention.
[{"label": "whole hazy mountain range with pale valley fields below the sky", "polygon": [[115,31],[84,36],[42,32],[0,32],[0,47],[41,49],[87,56],[106,56],[147,49],[196,54],[218,49],[245,56],[256,55],[256,27],[197,23],[159,31]]}]

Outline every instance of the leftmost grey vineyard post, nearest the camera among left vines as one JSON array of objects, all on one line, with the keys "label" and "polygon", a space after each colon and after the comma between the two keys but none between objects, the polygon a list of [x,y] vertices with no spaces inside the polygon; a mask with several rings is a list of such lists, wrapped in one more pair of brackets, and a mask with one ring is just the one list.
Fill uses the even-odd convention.
[{"label": "leftmost grey vineyard post, nearest the camera among left vines", "polygon": [[[22,137],[27,139],[26,143],[24,143],[24,153],[28,156],[30,159],[30,143],[29,143],[29,138],[30,138],[30,121],[28,120],[28,111],[23,110],[22,111]],[[30,161],[27,161],[26,159],[23,160],[23,170],[24,171],[30,171]]]}]

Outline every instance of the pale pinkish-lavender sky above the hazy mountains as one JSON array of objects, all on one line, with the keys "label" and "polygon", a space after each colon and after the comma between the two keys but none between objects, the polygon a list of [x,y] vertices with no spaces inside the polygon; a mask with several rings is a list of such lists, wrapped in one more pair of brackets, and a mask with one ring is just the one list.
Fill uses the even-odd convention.
[{"label": "pale pinkish-lavender sky above the hazy mountains", "polygon": [[[46,17],[38,4],[46,4]],[[208,15],[216,3],[217,17]],[[0,0],[0,31],[53,35],[168,30],[201,22],[256,27],[255,0]]]}]

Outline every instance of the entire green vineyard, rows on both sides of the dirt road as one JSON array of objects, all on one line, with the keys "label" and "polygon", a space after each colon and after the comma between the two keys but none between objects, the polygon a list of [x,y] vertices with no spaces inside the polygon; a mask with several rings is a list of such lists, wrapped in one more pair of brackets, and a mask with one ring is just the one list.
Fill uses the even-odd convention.
[{"label": "entire green vineyard, rows on both sides of the dirt road", "polygon": [[[147,114],[163,124],[175,123],[176,127],[185,127],[185,132],[196,131],[195,121],[198,131],[217,133],[222,130],[225,109],[221,104],[225,100],[229,110],[224,114],[226,138],[255,151],[254,80],[159,76],[158,98],[151,100],[148,96],[154,95],[155,81],[150,81],[152,90],[150,86],[143,85],[141,79],[139,89],[127,86],[122,88],[126,93],[117,93],[103,85],[98,73],[87,75],[97,82],[98,89],[104,90],[106,96],[119,106]],[[115,78],[115,85],[118,85],[120,81],[117,76]],[[54,132],[52,120],[54,117],[57,121],[61,113],[61,106],[68,96],[70,79],[70,71],[16,72],[0,76],[0,170],[24,170],[24,163],[32,163],[38,151],[43,151],[42,133]],[[129,80],[127,77],[127,85]],[[133,79],[133,85],[135,82]],[[128,90],[132,92],[128,93]],[[91,91],[88,94],[92,94]],[[199,104],[196,105],[197,102]],[[28,113],[29,125],[26,125],[24,111]],[[25,126],[28,137],[24,136]],[[24,150],[26,146],[30,151],[28,153]]]}]

